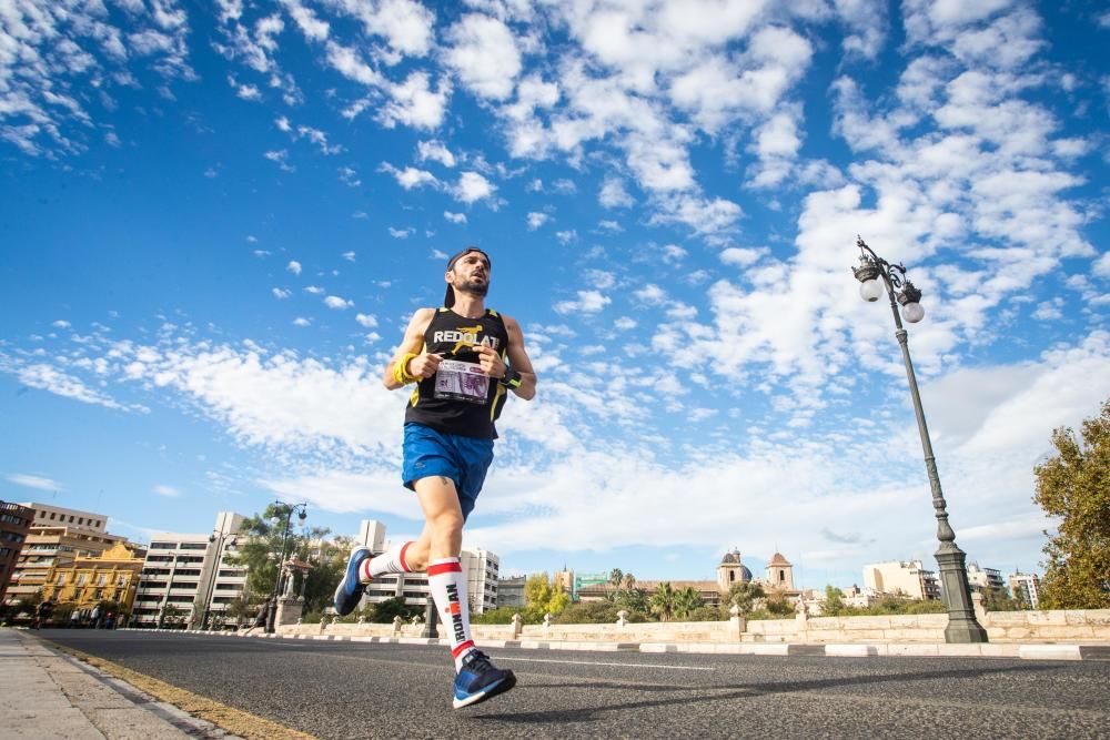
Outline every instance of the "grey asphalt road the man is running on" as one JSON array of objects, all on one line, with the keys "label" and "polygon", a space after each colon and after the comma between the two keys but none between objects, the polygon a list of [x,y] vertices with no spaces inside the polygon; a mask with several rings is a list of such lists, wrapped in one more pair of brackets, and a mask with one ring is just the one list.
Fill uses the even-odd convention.
[{"label": "grey asphalt road the man is running on", "polygon": [[1110,662],[494,649],[517,686],[451,708],[444,647],[43,630],[337,738],[1107,738]]}]

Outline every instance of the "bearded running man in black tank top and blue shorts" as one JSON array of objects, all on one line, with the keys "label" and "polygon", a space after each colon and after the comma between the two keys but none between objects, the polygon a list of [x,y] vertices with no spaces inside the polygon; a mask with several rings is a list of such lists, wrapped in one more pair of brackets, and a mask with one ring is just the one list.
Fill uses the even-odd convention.
[{"label": "bearded running man in black tank top and blue shorts", "polygon": [[442,308],[413,314],[382,382],[415,384],[405,409],[402,478],[424,511],[420,539],[377,557],[356,547],[335,589],[335,611],[351,614],[366,584],[385,574],[427,570],[428,589],[451,638],[455,709],[509,690],[511,670],[495,668],[471,639],[466,574],[458,564],[463,524],[493,462],[494,423],[508,393],[536,395],[536,374],[513,318],[485,307],[490,257],[466,247],[447,263]]}]

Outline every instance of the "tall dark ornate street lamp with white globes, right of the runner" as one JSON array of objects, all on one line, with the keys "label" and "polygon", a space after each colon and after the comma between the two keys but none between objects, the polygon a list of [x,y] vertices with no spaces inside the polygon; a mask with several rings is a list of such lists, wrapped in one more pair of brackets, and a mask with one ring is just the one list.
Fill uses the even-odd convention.
[{"label": "tall dark ornate street lamp with white globes, right of the runner", "polygon": [[[940,475],[937,473],[937,458],[932,454],[932,443],[929,440],[929,427],[925,423],[925,409],[921,407],[921,394],[917,388],[917,377],[914,375],[914,363],[909,358],[907,333],[902,328],[902,317],[910,324],[916,324],[925,317],[921,307],[921,291],[917,290],[906,277],[906,267],[890,264],[875,254],[864,240],[856,237],[859,247],[859,266],[851,272],[859,281],[859,295],[869,302],[878,301],[886,288],[890,298],[890,311],[895,315],[895,336],[901,345],[902,359],[906,362],[906,377],[909,379],[909,392],[914,398],[914,413],[917,415],[917,430],[921,435],[921,449],[925,453],[925,469],[929,475],[929,486],[932,489],[932,508],[937,516],[937,564],[940,566],[940,580],[945,587],[945,600],[948,604],[948,627],[945,628],[947,642],[986,642],[987,630],[976,621],[971,607],[971,589],[968,587],[967,556],[956,546],[956,533],[948,524],[948,505],[940,489]],[[881,281],[881,282],[880,282]],[[901,314],[898,306],[901,305]]]}]

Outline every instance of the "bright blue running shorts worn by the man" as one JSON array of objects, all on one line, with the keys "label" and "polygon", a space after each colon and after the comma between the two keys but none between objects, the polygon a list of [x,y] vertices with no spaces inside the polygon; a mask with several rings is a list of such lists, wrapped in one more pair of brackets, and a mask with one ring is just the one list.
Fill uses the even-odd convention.
[{"label": "bright blue running shorts worn by the man", "polygon": [[436,432],[423,424],[405,424],[401,476],[415,490],[421,478],[442,475],[455,483],[463,520],[474,510],[486,470],[493,463],[493,439]]}]

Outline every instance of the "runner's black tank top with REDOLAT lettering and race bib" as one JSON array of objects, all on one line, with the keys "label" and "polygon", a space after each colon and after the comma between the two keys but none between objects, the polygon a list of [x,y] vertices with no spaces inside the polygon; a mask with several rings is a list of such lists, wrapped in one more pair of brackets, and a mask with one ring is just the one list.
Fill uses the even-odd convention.
[{"label": "runner's black tank top with REDOLAT lettering and race bib", "polygon": [[481,318],[440,308],[424,332],[428,354],[444,359],[432,377],[416,383],[405,409],[405,424],[423,424],[437,432],[496,439],[494,422],[505,406],[506,389],[482,372],[474,345],[484,344],[505,358],[508,331],[496,311]]}]

